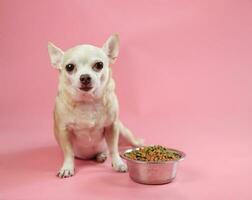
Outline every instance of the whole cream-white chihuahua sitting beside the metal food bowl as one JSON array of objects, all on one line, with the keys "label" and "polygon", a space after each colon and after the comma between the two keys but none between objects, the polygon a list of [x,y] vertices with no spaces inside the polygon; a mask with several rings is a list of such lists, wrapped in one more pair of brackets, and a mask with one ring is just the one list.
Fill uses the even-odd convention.
[{"label": "whole cream-white chihuahua sitting beside the metal food bowl", "polygon": [[57,176],[74,175],[74,157],[104,162],[107,149],[112,167],[126,172],[118,152],[119,135],[132,146],[136,139],[119,119],[119,106],[110,64],[119,53],[119,37],[109,37],[102,48],[78,45],[63,52],[48,43],[51,64],[59,70],[58,94],[54,108],[54,135],[64,162]]}]

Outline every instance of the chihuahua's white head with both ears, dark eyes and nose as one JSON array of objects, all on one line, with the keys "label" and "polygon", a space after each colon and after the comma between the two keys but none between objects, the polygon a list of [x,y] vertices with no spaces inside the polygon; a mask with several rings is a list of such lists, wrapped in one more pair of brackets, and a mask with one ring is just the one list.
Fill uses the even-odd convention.
[{"label": "chihuahua's white head with both ears, dark eyes and nose", "polygon": [[65,89],[75,99],[101,96],[110,78],[109,64],[119,53],[119,37],[109,37],[102,48],[78,45],[62,51],[48,43],[52,65],[60,71],[59,89]]}]

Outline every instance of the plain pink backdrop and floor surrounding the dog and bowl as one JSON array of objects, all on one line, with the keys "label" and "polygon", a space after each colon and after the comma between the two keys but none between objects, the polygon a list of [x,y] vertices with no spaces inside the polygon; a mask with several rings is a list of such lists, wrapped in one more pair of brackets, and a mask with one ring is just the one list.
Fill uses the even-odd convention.
[{"label": "plain pink backdrop and floor surrounding the dog and bowl", "polygon": [[[55,177],[47,41],[101,46],[113,32],[124,123],[187,154],[171,184],[136,184],[108,161]],[[0,199],[252,199],[251,1],[1,0],[0,45]]]}]

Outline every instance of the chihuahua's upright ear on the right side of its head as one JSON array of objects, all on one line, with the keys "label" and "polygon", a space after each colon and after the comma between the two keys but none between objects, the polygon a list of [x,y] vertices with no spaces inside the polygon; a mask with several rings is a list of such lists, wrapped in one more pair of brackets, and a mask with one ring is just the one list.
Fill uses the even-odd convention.
[{"label": "chihuahua's upright ear on the right side of its head", "polygon": [[108,56],[109,62],[114,63],[119,54],[119,35],[111,35],[103,45],[102,49]]}]

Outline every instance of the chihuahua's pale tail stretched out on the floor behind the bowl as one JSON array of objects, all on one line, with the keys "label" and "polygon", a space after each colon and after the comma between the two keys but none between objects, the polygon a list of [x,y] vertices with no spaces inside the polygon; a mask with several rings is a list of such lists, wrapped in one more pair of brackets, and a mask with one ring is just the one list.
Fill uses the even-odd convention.
[{"label": "chihuahua's pale tail stretched out on the floor behind the bowl", "polygon": [[137,139],[133,133],[126,128],[121,121],[118,123],[119,125],[119,130],[120,130],[120,146],[126,145],[124,141],[121,139],[125,139],[127,143],[129,143],[131,146],[138,147],[138,146],[143,146],[144,140],[143,139]]}]

